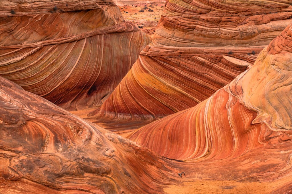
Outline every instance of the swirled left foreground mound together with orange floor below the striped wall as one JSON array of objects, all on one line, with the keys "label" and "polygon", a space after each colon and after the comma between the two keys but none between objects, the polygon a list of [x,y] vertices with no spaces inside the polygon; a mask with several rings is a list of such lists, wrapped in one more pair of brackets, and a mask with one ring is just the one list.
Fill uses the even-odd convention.
[{"label": "swirled left foreground mound together with orange floor below the striped wall", "polygon": [[292,141],[281,134],[235,159],[167,160],[0,77],[0,192],[287,192]]}]

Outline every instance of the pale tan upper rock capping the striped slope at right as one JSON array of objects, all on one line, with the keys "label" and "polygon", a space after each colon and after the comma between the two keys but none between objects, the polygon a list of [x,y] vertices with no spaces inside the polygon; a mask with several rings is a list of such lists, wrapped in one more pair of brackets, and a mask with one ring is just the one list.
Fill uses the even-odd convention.
[{"label": "pale tan upper rock capping the striped slope at right", "polygon": [[292,129],[291,26],[292,23],[263,49],[255,67],[238,76],[229,86],[241,103],[258,113],[253,122],[265,122],[277,131]]}]

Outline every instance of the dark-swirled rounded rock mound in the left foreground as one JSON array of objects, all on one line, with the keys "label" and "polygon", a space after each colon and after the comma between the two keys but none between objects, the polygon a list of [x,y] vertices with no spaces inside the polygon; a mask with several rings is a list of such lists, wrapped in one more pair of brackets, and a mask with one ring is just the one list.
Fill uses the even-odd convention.
[{"label": "dark-swirled rounded rock mound in the left foreground", "polygon": [[0,192],[161,193],[161,156],[0,77]]}]

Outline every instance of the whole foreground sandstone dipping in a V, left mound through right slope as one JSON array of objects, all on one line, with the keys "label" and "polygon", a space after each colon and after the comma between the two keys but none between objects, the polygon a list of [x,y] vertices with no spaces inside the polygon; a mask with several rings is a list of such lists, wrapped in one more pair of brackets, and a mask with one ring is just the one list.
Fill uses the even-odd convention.
[{"label": "whole foreground sandstone dipping in a V, left mound through right slope", "polygon": [[291,42],[289,25],[210,98],[128,135],[176,160],[0,77],[0,192],[291,192]]}]

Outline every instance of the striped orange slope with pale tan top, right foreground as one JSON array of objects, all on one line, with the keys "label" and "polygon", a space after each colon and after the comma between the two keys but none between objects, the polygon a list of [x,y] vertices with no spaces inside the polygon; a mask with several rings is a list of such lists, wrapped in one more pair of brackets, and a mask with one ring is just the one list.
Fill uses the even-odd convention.
[{"label": "striped orange slope with pale tan top, right foreground", "polygon": [[[207,192],[196,181],[214,188],[215,182],[202,182],[209,177],[233,180],[232,186],[222,187],[231,193],[291,193],[291,61],[292,23],[261,51],[253,67],[210,98],[127,138],[193,165],[187,170],[195,181],[171,186],[169,192],[192,193],[195,188]],[[257,182],[257,188],[234,190],[245,181],[245,185]]]}]

